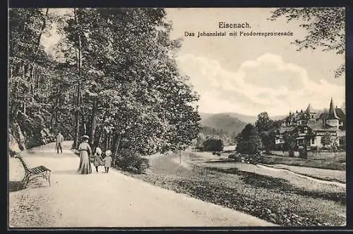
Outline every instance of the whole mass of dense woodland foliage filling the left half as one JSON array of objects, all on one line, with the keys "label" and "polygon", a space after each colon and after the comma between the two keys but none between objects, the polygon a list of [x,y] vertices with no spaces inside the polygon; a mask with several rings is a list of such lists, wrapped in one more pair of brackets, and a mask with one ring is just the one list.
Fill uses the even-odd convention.
[{"label": "whole mass of dense woodland foliage filling the left half", "polygon": [[[9,11],[9,115],[25,134],[61,130],[78,146],[149,155],[198,136],[198,95],[175,60],[180,40],[162,8],[14,8]],[[42,35],[63,35],[45,49]],[[31,122],[31,123],[29,123]],[[28,141],[28,137],[25,137]]]}]

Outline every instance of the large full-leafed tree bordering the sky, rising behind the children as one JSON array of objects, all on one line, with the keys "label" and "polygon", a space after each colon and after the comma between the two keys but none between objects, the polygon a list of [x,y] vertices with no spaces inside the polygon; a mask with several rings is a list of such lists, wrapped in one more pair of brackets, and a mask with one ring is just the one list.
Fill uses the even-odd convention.
[{"label": "large full-leafed tree bordering the sky, rising behind the children", "polygon": [[112,131],[102,134],[106,147],[117,148],[122,132],[130,141],[126,145],[138,153],[189,146],[200,131],[200,117],[190,105],[198,95],[171,56],[179,42],[169,40],[164,10],[90,8],[78,13],[80,29],[71,28],[82,32],[82,105],[90,106],[91,134],[96,126],[97,134],[104,129],[97,119],[109,119]]}]

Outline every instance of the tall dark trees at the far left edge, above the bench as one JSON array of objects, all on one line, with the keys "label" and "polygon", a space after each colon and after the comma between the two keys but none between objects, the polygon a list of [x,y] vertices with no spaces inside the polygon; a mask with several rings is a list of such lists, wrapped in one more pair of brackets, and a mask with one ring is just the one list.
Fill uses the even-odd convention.
[{"label": "tall dark trees at the far left edge, above the bench", "polygon": [[44,142],[40,132],[48,127],[47,117],[51,115],[52,100],[49,96],[53,83],[48,78],[55,71],[52,69],[52,57],[44,52],[41,42],[52,20],[48,8],[9,9],[10,127],[22,131],[25,144],[29,147]]}]

